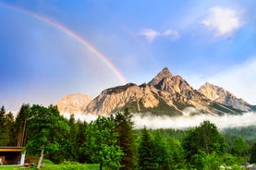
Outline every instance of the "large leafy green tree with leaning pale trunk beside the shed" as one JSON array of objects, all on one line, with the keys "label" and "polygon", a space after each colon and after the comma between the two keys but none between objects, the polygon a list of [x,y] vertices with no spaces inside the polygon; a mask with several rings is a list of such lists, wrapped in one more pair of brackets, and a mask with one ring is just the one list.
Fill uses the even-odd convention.
[{"label": "large leafy green tree with leaning pale trunk beside the shed", "polygon": [[44,154],[56,152],[62,148],[62,140],[66,140],[69,128],[63,121],[55,106],[48,108],[42,105],[34,104],[30,107],[28,117],[28,143],[27,151],[30,153],[39,153],[40,158],[37,169],[40,169]]}]

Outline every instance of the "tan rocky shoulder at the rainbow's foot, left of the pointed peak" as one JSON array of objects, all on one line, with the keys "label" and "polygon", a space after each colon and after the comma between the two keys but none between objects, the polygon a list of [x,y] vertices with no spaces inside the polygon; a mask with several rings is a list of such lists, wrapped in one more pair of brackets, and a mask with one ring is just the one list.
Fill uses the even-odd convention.
[{"label": "tan rocky shoulder at the rainbow's foot, left of the pointed peak", "polygon": [[155,107],[159,103],[148,86],[139,87],[128,83],[125,86],[104,90],[89,103],[86,111],[89,113],[107,115],[116,112],[127,104],[134,104],[140,111],[140,104],[144,107]]}]

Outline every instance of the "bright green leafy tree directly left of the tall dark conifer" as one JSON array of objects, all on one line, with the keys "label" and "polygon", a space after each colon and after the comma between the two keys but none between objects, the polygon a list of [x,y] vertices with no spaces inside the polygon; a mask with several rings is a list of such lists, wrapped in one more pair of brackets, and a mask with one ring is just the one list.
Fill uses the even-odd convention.
[{"label": "bright green leafy tree directly left of the tall dark conifer", "polygon": [[106,117],[99,116],[86,129],[85,152],[94,163],[109,169],[118,169],[123,152],[117,144],[118,133],[115,123]]}]

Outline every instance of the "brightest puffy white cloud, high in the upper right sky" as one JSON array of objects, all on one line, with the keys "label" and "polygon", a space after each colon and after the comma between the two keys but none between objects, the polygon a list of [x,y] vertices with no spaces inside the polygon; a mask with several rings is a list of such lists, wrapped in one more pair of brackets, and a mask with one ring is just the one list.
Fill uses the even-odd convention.
[{"label": "brightest puffy white cloud, high in the upper right sky", "polygon": [[210,8],[208,17],[201,23],[209,30],[214,30],[216,37],[232,35],[242,25],[238,11],[220,6]]}]

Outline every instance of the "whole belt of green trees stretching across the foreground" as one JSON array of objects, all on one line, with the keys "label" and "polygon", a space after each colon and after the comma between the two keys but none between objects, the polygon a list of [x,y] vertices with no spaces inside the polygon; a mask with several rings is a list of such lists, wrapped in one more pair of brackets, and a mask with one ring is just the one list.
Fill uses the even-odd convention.
[{"label": "whole belt of green trees stretching across the foreground", "polygon": [[23,104],[16,118],[0,110],[0,146],[18,146],[26,154],[59,164],[100,164],[100,169],[239,169],[256,163],[256,142],[219,132],[210,121],[199,127],[134,129],[132,114],[123,112],[95,121],[65,118],[56,106]]}]

